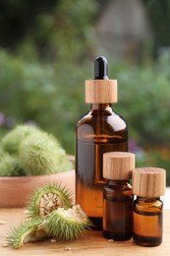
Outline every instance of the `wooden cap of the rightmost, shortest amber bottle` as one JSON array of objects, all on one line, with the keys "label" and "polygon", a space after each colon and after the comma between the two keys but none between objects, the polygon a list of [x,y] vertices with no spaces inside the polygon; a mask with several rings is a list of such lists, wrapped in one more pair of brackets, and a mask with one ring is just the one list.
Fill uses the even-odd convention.
[{"label": "wooden cap of the rightmost, shortest amber bottle", "polygon": [[165,194],[166,171],[157,167],[133,170],[133,193],[141,197],[160,197]]}]

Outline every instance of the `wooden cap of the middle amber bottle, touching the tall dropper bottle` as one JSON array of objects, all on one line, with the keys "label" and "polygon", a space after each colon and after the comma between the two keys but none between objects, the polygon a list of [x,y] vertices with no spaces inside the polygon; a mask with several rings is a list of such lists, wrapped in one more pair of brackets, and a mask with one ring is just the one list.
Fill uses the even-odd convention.
[{"label": "wooden cap of the middle amber bottle, touching the tall dropper bottle", "polygon": [[112,180],[129,180],[135,168],[135,154],[109,152],[103,154],[103,177]]}]

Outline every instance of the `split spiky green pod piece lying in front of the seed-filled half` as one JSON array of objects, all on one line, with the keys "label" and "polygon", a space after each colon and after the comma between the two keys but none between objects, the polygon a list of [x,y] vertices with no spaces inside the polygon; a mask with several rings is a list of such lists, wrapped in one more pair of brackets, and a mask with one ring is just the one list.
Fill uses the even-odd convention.
[{"label": "split spiky green pod piece lying in front of the seed-filled half", "polygon": [[44,223],[47,234],[63,241],[78,239],[89,226],[90,222],[79,205],[67,210],[59,208],[53,211]]}]

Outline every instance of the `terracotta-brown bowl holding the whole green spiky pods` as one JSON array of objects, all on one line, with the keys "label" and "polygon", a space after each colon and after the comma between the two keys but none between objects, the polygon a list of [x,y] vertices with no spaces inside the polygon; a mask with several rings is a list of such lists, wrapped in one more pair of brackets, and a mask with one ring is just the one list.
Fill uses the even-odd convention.
[{"label": "terracotta-brown bowl holding the whole green spiky pods", "polygon": [[[73,157],[69,158],[73,160]],[[75,200],[75,170],[48,175],[0,177],[0,208],[25,207],[35,188],[56,182],[66,186]]]}]

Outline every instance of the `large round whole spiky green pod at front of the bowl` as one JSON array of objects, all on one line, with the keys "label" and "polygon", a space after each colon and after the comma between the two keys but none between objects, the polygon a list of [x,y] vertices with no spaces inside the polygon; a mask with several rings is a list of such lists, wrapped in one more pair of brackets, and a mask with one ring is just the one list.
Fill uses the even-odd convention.
[{"label": "large round whole spiky green pod at front of the bowl", "polygon": [[66,153],[53,136],[34,133],[22,142],[19,157],[27,173],[42,175],[63,171]]}]

